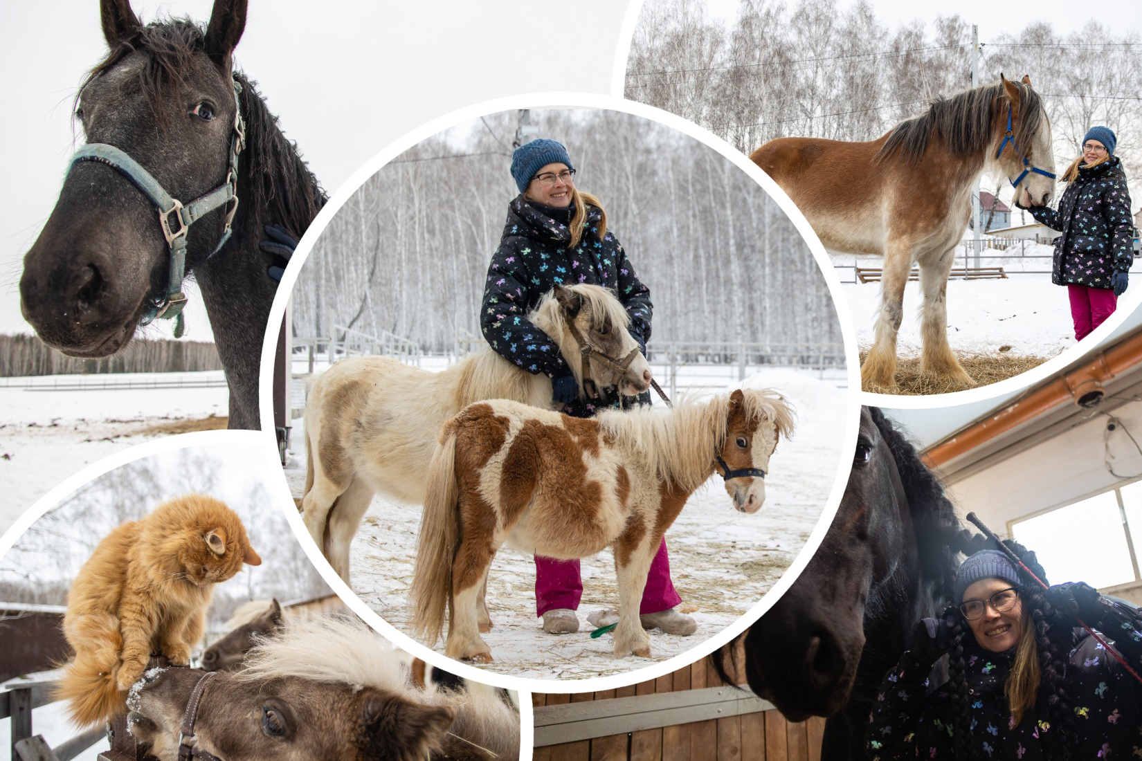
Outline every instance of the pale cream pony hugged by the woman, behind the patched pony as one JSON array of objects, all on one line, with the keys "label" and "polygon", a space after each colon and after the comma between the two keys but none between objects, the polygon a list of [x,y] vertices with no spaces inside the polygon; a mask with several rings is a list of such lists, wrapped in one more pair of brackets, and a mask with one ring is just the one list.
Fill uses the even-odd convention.
[{"label": "pale cream pony hugged by the woman, behind the patched pony", "polygon": [[[626,396],[650,388],[650,365],[627,332],[629,315],[608,289],[557,285],[528,318],[560,347],[580,396],[585,377]],[[586,361],[585,343],[593,349]],[[550,407],[552,381],[488,346],[439,373],[391,357],[354,357],[317,378],[305,406],[301,509],[309,535],[341,578],[348,582],[349,543],[372,495],[424,504],[440,427],[490,398]]]}]

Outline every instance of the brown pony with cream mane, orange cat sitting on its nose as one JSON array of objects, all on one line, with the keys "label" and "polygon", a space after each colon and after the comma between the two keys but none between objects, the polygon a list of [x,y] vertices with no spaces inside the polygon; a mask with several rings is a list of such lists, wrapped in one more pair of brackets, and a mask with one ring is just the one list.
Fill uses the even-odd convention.
[{"label": "brown pony with cream mane, orange cat sitting on its nose", "polygon": [[[520,713],[492,689],[424,688],[409,656],[344,617],[291,622],[203,685],[193,758],[225,761],[514,761]],[[128,698],[131,735],[176,761],[203,672],[147,672]]]}]

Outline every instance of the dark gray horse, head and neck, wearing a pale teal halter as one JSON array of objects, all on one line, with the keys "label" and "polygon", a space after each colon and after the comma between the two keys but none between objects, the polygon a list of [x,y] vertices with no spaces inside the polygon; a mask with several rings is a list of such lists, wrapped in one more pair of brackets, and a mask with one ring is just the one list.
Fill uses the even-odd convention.
[{"label": "dark gray horse, head and neck, wearing a pale teal halter", "polygon": [[193,275],[226,372],[231,428],[258,427],[276,292],[267,269],[281,264],[259,249],[264,227],[298,238],[325,202],[254,83],[232,68],[246,7],[215,0],[203,29],[144,25],[128,0],[100,1],[111,50],[75,100],[88,145],[19,284],[24,317],[45,343],[104,357],[138,325],[178,316],[184,274]]}]

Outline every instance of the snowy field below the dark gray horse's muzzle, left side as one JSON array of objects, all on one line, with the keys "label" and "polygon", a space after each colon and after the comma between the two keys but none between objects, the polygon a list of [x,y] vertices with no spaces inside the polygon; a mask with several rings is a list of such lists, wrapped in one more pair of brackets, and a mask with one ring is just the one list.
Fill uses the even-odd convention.
[{"label": "snowy field below the dark gray horse's muzzle, left side", "polygon": [[220,370],[0,379],[0,533],[82,467],[180,421],[225,418],[227,399]]}]

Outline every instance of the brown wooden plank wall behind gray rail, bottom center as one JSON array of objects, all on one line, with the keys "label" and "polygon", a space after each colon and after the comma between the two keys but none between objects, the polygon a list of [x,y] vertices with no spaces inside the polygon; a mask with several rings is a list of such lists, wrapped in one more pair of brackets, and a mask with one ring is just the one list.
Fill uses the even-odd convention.
[{"label": "brown wooden plank wall behind gray rail, bottom center", "polygon": [[[738,674],[739,683],[745,678]],[[532,705],[562,705],[612,697],[718,687],[707,658],[653,681],[602,693],[532,693]],[[711,719],[661,729],[596,737],[534,748],[534,761],[820,761],[825,720],[789,722],[777,711]]]}]

